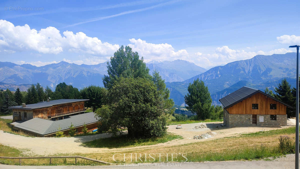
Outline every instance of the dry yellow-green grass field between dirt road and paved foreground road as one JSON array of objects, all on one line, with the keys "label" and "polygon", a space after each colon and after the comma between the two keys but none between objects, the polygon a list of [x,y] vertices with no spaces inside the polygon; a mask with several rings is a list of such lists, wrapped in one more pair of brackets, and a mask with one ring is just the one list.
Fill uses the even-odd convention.
[{"label": "dry yellow-green grass field between dirt road and paved foreground road", "polygon": [[[177,146],[156,146],[148,148],[132,147],[128,150],[114,150],[112,152],[101,153],[76,153],[76,154],[58,154],[58,155],[82,155],[89,158],[95,158],[111,163],[123,164],[132,163],[129,161],[116,162],[113,161],[112,156],[115,153],[122,155],[116,156],[116,160],[123,159],[123,154],[141,153],[142,158],[145,159],[145,153],[161,153],[161,161],[167,162],[166,154],[169,154],[168,161],[170,161],[170,154],[184,153],[184,156],[189,162],[203,162],[203,161],[227,161],[227,160],[257,160],[266,157],[278,157],[282,155],[278,152],[278,138],[285,135],[295,139],[295,127],[280,129],[274,131],[262,131],[251,134],[241,134],[238,137],[225,137],[216,140],[207,140],[197,143],[189,143]],[[108,141],[108,140],[107,140]],[[0,145],[0,156],[20,156],[21,150]],[[151,162],[159,162],[158,154],[153,155],[155,158]],[[186,158],[178,156],[177,160],[186,161]],[[135,157],[134,157],[135,159]],[[151,159],[152,160],[152,159]],[[78,160],[76,165],[100,165],[86,160]],[[142,163],[145,161],[133,161],[133,163]],[[147,161],[149,162],[149,161]],[[1,164],[18,164],[18,160],[0,159]],[[53,165],[74,165],[74,159],[52,159]],[[48,165],[49,159],[28,159],[22,160],[22,165]]]}]

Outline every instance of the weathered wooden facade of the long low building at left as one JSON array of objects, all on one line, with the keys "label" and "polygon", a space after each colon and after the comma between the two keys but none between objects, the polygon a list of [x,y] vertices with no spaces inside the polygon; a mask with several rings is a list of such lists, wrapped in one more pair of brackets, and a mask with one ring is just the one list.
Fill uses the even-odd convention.
[{"label": "weathered wooden facade of the long low building at left", "polygon": [[13,121],[30,120],[32,118],[52,119],[55,117],[71,115],[84,111],[86,111],[84,107],[84,101],[58,104],[51,107],[32,110],[13,109]]}]

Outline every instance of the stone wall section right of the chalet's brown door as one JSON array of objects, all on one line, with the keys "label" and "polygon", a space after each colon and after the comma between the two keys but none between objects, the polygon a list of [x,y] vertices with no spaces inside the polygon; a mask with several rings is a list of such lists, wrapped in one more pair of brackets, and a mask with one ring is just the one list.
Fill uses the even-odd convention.
[{"label": "stone wall section right of the chalet's brown door", "polygon": [[[263,117],[263,122],[259,121],[259,116]],[[258,126],[286,126],[286,115],[276,115],[276,120],[271,120],[270,115],[257,115]]]}]

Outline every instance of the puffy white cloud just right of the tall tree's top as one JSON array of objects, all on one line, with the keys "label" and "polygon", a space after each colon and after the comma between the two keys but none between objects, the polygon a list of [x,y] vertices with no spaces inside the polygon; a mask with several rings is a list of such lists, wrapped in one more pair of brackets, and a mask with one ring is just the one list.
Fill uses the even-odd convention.
[{"label": "puffy white cloud just right of the tall tree's top", "polygon": [[172,45],[147,43],[141,39],[129,39],[131,44],[128,44],[133,51],[137,51],[140,56],[144,57],[146,62],[151,60],[175,60],[188,56],[186,50],[182,49],[175,51]]}]

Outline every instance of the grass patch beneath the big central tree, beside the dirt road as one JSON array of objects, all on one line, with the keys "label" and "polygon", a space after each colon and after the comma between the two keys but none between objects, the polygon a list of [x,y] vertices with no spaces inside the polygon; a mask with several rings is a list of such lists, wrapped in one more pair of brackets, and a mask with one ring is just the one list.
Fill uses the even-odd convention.
[{"label": "grass patch beneath the big central tree, beside the dirt road", "polygon": [[182,139],[179,135],[167,134],[163,137],[149,138],[149,139],[136,139],[128,138],[127,135],[121,135],[118,137],[102,138],[98,140],[89,141],[83,143],[86,147],[97,148],[118,148],[118,147],[135,147],[135,146],[148,146],[158,143],[165,143],[174,139]]}]

